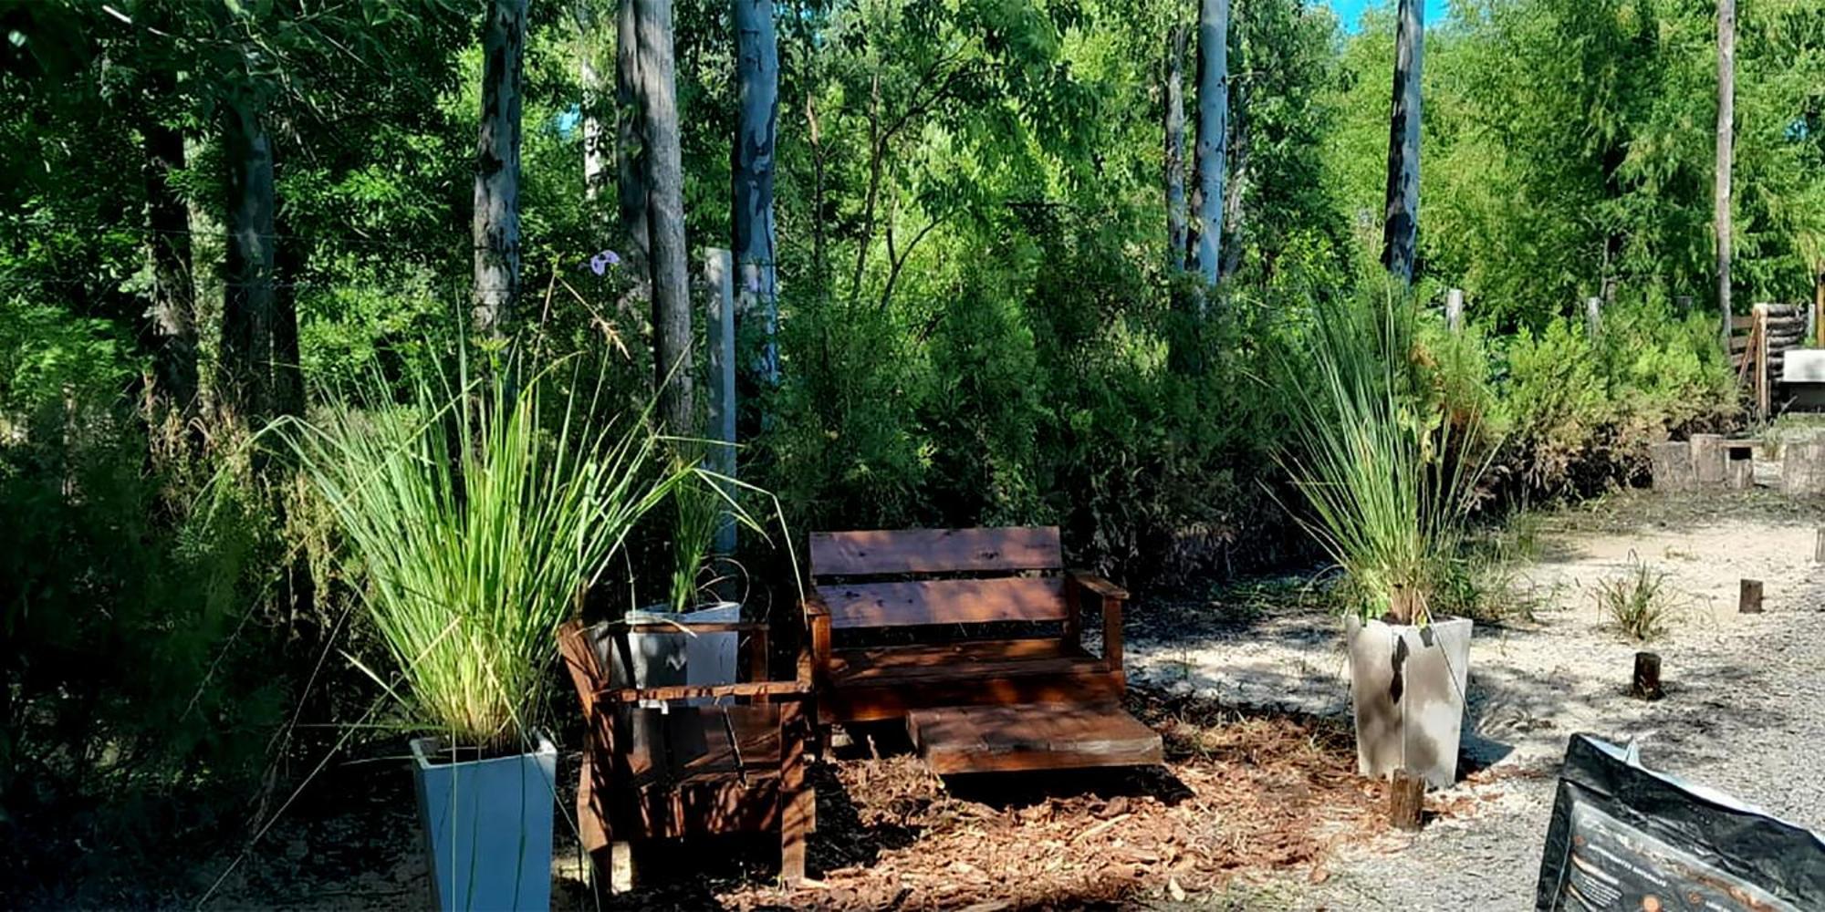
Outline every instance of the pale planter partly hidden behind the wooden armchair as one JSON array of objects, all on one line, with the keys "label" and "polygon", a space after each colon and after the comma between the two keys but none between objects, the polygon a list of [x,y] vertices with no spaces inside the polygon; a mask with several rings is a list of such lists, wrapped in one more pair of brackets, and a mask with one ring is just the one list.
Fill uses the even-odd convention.
[{"label": "pale planter partly hidden behind the wooden armchair", "polygon": [[[610,684],[617,688],[664,688],[670,684],[734,684],[739,633],[690,633],[692,624],[735,624],[741,604],[717,602],[697,611],[628,611],[628,620],[675,624],[642,627],[628,633],[628,651],[610,649],[600,638],[597,649],[608,662]],[[628,679],[628,666],[633,679]],[[690,700],[694,706],[710,700]]]}]

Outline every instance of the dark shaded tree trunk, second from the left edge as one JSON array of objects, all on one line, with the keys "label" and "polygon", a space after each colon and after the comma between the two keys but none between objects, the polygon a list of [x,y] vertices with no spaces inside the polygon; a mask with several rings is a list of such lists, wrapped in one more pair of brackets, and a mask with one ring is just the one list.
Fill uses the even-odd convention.
[{"label": "dark shaded tree trunk, second from the left edge", "polygon": [[228,157],[228,257],[223,294],[221,398],[245,420],[270,403],[274,323],[272,142],[248,100],[223,122]]}]

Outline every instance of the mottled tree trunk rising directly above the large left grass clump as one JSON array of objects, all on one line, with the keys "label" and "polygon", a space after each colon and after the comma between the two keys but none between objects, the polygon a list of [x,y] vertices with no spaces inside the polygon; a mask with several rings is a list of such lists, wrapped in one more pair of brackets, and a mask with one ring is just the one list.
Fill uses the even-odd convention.
[{"label": "mottled tree trunk rising directly above the large left grass clump", "polygon": [[489,0],[474,153],[474,332],[504,336],[520,297],[520,86],[526,0]]}]

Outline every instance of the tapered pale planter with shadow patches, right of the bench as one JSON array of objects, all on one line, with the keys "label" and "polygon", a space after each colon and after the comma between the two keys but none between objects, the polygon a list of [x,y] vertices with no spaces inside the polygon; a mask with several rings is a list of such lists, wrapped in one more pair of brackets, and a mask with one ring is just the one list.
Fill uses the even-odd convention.
[{"label": "tapered pale planter with shadow patches, right of the bench", "polygon": [[1405,766],[1433,788],[1458,779],[1464,688],[1469,684],[1469,618],[1425,627],[1345,618],[1356,766],[1387,779]]}]

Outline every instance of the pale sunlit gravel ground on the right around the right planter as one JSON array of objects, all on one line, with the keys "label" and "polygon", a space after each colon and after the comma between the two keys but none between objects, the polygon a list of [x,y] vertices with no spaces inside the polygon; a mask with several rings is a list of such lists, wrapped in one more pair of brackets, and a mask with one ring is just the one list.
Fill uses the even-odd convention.
[{"label": "pale sunlit gravel ground on the right around the right planter", "polygon": [[[1825,567],[1816,522],[1652,520],[1626,531],[1542,534],[1520,586],[1537,624],[1480,627],[1465,748],[1484,770],[1434,795],[1447,808],[1416,837],[1340,846],[1321,883],[1276,883],[1250,908],[1533,908],[1566,739],[1637,741],[1642,762],[1825,830]],[[1736,511],[1741,513],[1741,511]],[[1663,657],[1666,699],[1626,697],[1637,646],[1602,626],[1595,587],[1635,564],[1666,573],[1681,606]],[[1765,615],[1737,615],[1741,578],[1767,584]],[[1159,629],[1163,618],[1142,622]],[[1349,713],[1338,624],[1314,611],[1170,640],[1133,638],[1137,682],[1252,706]],[[1462,775],[1462,773],[1460,773]]]}]

